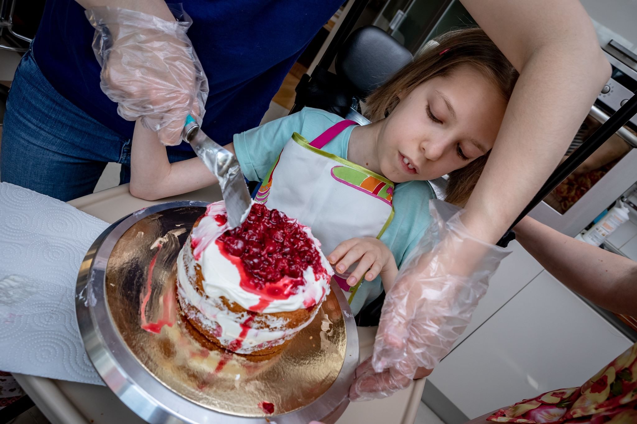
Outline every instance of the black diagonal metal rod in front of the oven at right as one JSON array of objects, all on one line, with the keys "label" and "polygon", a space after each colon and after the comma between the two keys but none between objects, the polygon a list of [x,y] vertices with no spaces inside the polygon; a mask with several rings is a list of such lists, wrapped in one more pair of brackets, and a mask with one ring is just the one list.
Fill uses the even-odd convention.
[{"label": "black diagonal metal rod in front of the oven at right", "polygon": [[555,171],[548,177],[547,182],[544,183],[538,194],[535,195],[533,200],[527,205],[520,214],[513,225],[509,228],[513,228],[515,224],[520,222],[522,218],[534,207],[538,205],[551,191],[553,191],[559,184],[566,179],[571,173],[582,164],[594,151],[596,151],[602,144],[606,142],[619,128],[626,125],[628,121],[637,114],[637,91],[633,93],[633,97],[629,99],[624,106],[610,116],[608,120],[601,125],[594,133],[590,135],[585,142],[582,143],[578,149],[576,149],[571,156],[569,156]]}]

